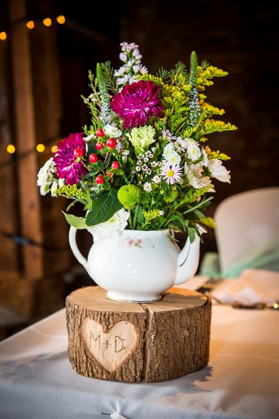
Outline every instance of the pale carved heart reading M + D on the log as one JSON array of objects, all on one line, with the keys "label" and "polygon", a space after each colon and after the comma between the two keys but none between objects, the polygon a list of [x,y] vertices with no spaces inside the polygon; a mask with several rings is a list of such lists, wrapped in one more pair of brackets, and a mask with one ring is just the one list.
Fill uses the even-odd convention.
[{"label": "pale carved heart reading M + D on the log", "polygon": [[81,328],[82,338],[94,360],[113,372],[133,352],[138,338],[134,324],[119,321],[107,333],[95,320],[88,318]]}]

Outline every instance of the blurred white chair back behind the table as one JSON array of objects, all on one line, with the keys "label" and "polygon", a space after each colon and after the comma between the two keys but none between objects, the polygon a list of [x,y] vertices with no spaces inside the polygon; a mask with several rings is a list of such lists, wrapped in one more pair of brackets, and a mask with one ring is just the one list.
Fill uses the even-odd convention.
[{"label": "blurred white chair back behind the table", "polygon": [[243,262],[249,254],[252,257],[253,253],[257,259],[256,255],[264,251],[268,254],[269,249],[279,250],[279,187],[255,189],[226,198],[214,218],[221,272],[237,261]]}]

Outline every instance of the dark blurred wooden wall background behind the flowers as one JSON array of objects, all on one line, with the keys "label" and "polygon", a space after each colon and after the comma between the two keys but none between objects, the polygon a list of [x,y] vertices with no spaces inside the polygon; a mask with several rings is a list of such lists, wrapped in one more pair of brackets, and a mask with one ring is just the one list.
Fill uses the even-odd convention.
[{"label": "dark blurred wooden wall background behind the flowers", "polygon": [[[149,72],[188,65],[192,50],[229,72],[207,94],[238,130],[213,134],[208,144],[233,157],[225,163],[232,184],[215,182],[208,215],[230,195],[278,185],[279,31],[271,2],[0,0],[0,337],[91,283],[69,250],[60,212],[67,203],[40,197],[36,179],[51,147],[89,122],[80,98],[90,94],[88,70],[107,59],[118,68],[122,41],[139,44]],[[79,237],[84,253],[90,240]],[[211,231],[201,257],[215,249]]]}]

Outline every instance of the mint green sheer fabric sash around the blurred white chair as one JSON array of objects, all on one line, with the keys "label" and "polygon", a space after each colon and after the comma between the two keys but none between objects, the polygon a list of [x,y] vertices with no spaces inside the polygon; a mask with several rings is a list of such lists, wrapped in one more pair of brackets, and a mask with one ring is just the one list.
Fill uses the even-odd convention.
[{"label": "mint green sheer fabric sash around the blurred white chair", "polygon": [[237,278],[247,268],[279,271],[279,239],[272,244],[251,248],[223,271],[218,253],[208,252],[201,262],[200,274],[214,278]]}]

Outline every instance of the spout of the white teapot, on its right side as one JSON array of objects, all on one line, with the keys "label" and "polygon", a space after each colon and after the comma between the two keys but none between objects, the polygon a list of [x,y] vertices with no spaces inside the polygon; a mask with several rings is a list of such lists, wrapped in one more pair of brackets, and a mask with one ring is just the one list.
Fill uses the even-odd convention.
[{"label": "spout of the white teapot, on its right side", "polygon": [[[201,225],[197,227],[200,234],[206,233],[207,230]],[[178,255],[178,268],[174,285],[180,285],[191,279],[196,273],[199,262],[200,238],[195,234],[195,238],[190,243],[189,237],[180,254]]]}]

